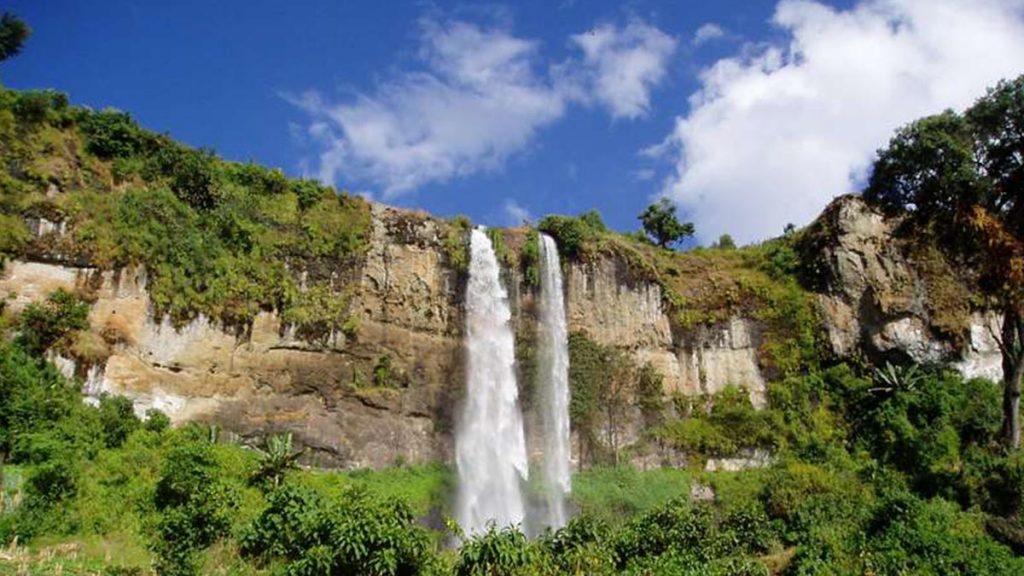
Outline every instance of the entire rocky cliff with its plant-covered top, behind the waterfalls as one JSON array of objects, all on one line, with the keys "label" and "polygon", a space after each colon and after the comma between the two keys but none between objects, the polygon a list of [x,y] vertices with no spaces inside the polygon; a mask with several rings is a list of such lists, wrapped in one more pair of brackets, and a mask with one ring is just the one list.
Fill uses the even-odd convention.
[{"label": "entire rocky cliff with its plant-covered top, behind the waterfalls", "polygon": [[[89,330],[50,354],[88,395],[123,394],[139,412],[254,442],[289,430],[323,465],[450,458],[467,221],[225,162],[53,92],[0,96],[4,314],[57,288],[87,300]],[[649,441],[645,403],[686,412],[736,385],[763,406],[766,381],[838,360],[1000,377],[999,318],[969,271],[859,198],[741,249],[671,252],[596,214],[548,223],[573,341],[659,376],[657,398],[627,395],[626,417],[604,436],[620,446]],[[536,234],[492,231],[527,423]]]}]

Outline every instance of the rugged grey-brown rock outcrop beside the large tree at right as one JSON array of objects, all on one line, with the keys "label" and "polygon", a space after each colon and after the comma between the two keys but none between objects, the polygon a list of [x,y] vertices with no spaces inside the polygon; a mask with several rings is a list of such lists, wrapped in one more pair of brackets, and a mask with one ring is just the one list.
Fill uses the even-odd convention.
[{"label": "rugged grey-brown rock outcrop beside the large tree at right", "polygon": [[968,377],[1001,378],[999,315],[971,310],[970,279],[896,238],[894,224],[846,196],[808,229],[804,259],[834,354],[944,362]]}]

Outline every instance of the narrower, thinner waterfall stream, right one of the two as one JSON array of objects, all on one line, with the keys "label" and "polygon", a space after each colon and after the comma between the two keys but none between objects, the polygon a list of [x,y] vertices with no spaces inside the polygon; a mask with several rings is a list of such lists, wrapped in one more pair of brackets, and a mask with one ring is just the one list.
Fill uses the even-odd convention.
[{"label": "narrower, thinner waterfall stream, right one of the two", "polygon": [[569,471],[569,348],[565,326],[562,269],[554,239],[541,235],[539,392],[544,435],[542,485],[545,525],[565,525],[565,497],[572,485]]}]

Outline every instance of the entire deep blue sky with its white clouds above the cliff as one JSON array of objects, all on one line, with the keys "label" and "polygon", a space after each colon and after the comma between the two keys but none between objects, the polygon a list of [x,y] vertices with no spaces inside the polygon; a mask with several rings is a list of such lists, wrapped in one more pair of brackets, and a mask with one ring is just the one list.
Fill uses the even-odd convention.
[{"label": "entire deep blue sky with its white clouds above the cliff", "polygon": [[895,127],[1024,72],[1020,0],[6,4],[8,86],[494,225],[634,230],[667,195],[706,242],[806,223]]}]

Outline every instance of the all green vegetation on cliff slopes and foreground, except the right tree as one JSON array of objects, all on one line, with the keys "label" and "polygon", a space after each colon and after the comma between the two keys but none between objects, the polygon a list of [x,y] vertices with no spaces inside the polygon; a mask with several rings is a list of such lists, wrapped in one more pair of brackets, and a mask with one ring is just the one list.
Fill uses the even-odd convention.
[{"label": "all green vegetation on cliff slopes and foreground, except the right tree", "polygon": [[[0,92],[0,156],[7,257],[144,266],[155,312],[178,324],[206,315],[244,330],[273,310],[310,337],[351,328],[371,224],[361,199],[54,92]],[[66,233],[31,234],[43,222]],[[468,227],[454,221],[442,241],[463,272]],[[538,231],[564,258],[613,256],[628,281],[656,283],[677,329],[758,320],[768,408],[731,387],[666,407],[648,367],[573,334],[573,428],[600,435],[635,406],[645,440],[687,465],[593,454],[568,526],[531,539],[495,528],[456,549],[442,465],[308,469],[289,437],[244,446],[216,426],[138,418],[124,398],[82,402],[47,351],[87,346],[87,303],[58,291],[0,316],[0,574],[1024,573],[1024,458],[1000,443],[999,385],[823,355],[801,233],[687,252],[608,231],[596,213],[492,233],[527,285]],[[703,471],[755,448],[770,467]]]}]

